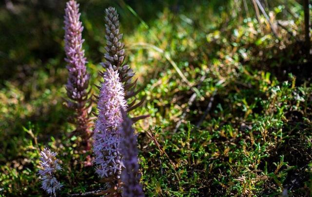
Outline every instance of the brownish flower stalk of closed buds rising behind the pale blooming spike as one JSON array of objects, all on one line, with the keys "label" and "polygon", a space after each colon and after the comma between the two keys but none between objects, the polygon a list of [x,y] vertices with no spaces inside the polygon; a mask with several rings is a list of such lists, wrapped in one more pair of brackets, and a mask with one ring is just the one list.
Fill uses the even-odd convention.
[{"label": "brownish flower stalk of closed buds rising behind the pale blooming spike", "polygon": [[[132,82],[134,76],[133,70],[129,65],[124,63],[125,49],[122,43],[122,34],[119,32],[119,19],[117,10],[114,7],[109,7],[105,10],[105,38],[106,38],[106,53],[104,58],[106,61],[101,63],[107,69],[112,66],[115,71],[118,71],[119,79],[124,85],[125,99],[134,98],[127,106],[127,111],[131,111],[139,107],[144,99],[136,103],[135,96],[139,91],[136,91],[137,80]],[[136,117],[134,120],[146,118],[148,116]]]}]

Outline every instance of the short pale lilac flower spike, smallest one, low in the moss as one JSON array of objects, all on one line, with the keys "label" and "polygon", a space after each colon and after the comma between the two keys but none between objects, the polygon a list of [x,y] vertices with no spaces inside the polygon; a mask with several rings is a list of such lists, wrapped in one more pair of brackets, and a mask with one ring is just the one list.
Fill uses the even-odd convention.
[{"label": "short pale lilac flower spike, smallest one, low in the moss", "polygon": [[54,177],[54,173],[61,170],[59,159],[56,158],[57,153],[51,152],[50,149],[44,148],[40,152],[40,170],[39,176],[42,181],[41,188],[50,195],[60,190],[62,184]]}]

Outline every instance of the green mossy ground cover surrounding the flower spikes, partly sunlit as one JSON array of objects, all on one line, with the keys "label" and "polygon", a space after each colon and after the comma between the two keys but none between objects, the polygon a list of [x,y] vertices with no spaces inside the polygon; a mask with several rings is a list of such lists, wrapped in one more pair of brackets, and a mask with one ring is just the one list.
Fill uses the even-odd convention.
[{"label": "green mossy ground cover surrounding the flower spikes, partly sunlit", "polygon": [[[42,2],[0,7],[0,196],[46,196],[36,175],[46,145],[62,160],[59,195],[103,185],[83,166],[92,153],[67,137],[65,1]],[[277,25],[277,37],[243,1],[78,2],[92,84],[104,8],[120,14],[147,98],[131,115],[151,115],[135,125],[147,196],[312,195],[312,64],[298,2],[269,2],[270,19],[288,29]]]}]

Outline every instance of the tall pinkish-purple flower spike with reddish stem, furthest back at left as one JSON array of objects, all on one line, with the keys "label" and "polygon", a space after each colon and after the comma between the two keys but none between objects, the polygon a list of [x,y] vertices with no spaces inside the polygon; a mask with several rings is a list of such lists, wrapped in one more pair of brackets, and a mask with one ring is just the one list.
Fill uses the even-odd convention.
[{"label": "tall pinkish-purple flower spike with reddish stem, furthest back at left", "polygon": [[[89,75],[86,72],[86,58],[81,37],[83,30],[82,23],[79,21],[79,4],[75,0],[66,3],[65,8],[65,53],[67,61],[66,68],[69,76],[66,84],[67,106],[75,111],[72,122],[76,124],[76,132],[83,138],[83,143],[87,150],[90,150],[90,138],[92,120],[90,118],[91,99],[88,98]],[[89,106],[87,106],[89,104]]]}]

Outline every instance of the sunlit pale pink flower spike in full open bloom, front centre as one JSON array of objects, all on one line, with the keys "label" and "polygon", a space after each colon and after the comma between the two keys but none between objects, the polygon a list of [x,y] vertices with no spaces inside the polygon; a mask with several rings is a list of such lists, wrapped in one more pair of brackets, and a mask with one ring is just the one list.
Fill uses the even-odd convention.
[{"label": "sunlit pale pink flower spike in full open bloom, front centre", "polygon": [[112,66],[104,72],[103,78],[98,98],[98,119],[93,136],[94,162],[99,177],[110,179],[110,188],[119,190],[123,166],[119,152],[122,122],[120,106],[125,110],[126,101],[122,83]]}]

